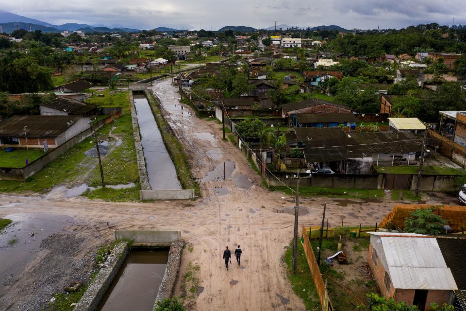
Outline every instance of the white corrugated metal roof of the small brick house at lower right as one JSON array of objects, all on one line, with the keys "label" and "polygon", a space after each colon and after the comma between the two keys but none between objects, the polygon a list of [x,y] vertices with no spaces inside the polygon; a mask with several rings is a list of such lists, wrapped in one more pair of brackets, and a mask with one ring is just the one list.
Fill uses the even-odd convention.
[{"label": "white corrugated metal roof of the small brick house at lower right", "polygon": [[395,288],[457,289],[435,238],[414,233],[376,233],[382,241],[388,273]]}]

